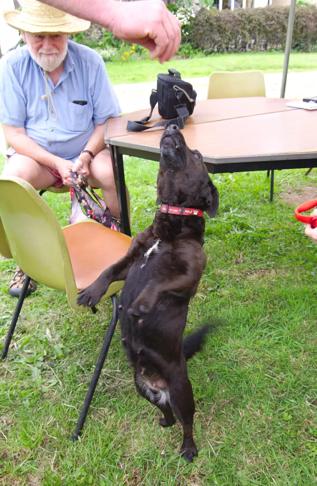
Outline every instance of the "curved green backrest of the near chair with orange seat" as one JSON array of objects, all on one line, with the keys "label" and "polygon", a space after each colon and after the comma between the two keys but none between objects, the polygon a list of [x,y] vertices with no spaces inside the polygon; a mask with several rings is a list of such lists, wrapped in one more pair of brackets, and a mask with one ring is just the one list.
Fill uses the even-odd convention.
[{"label": "curved green backrest of the near chair with orange seat", "polygon": [[0,237],[6,236],[6,243],[0,243],[4,256],[8,258],[9,250],[31,278],[77,294],[62,229],[45,201],[19,177],[0,177],[0,222]]}]

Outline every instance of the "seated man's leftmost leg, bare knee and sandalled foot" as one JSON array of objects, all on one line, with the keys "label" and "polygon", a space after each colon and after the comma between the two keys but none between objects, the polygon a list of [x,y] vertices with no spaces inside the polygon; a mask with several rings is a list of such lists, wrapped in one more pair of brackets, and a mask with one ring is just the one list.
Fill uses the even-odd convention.
[{"label": "seated man's leftmost leg, bare knee and sandalled foot", "polygon": [[[48,171],[43,165],[39,164],[30,157],[14,154],[9,158],[8,163],[5,165],[2,174],[4,177],[15,176],[29,182],[37,191],[40,189],[45,189],[49,186],[53,186],[55,182],[58,181],[58,177],[55,177]],[[23,282],[25,279],[25,273],[17,267],[16,273],[14,274],[10,284],[9,284],[9,294],[18,297]],[[36,284],[33,279],[29,283],[29,288],[26,295],[30,295],[36,289]]]}]

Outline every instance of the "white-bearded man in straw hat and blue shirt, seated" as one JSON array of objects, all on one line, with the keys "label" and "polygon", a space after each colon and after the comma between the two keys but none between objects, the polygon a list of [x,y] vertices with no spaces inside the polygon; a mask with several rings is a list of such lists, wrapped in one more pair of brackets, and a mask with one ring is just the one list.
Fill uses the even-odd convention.
[{"label": "white-bearded man in straw hat and blue shirt, seated", "polygon": [[[4,18],[21,31],[26,46],[0,60],[0,121],[10,145],[2,175],[21,177],[39,190],[71,187],[70,171],[81,172],[118,218],[104,132],[120,106],[102,58],[69,40],[90,23],[36,0],[24,0],[21,12],[5,12]],[[17,269],[11,295],[19,295],[24,278]],[[35,288],[31,280],[28,293]]]}]

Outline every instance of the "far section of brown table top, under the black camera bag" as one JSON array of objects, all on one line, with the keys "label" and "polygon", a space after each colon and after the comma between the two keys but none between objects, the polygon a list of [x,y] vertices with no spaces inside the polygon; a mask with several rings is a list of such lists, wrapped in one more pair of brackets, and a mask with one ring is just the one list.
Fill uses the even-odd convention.
[{"label": "far section of brown table top, under the black camera bag", "polygon": [[[196,102],[194,113],[186,121],[186,126],[211,121],[229,120],[231,118],[249,117],[263,113],[295,110],[296,108],[286,106],[288,101],[290,100],[265,97],[201,100]],[[149,113],[150,105],[144,110],[126,113],[118,118],[110,118],[106,127],[106,143],[110,143],[110,139],[112,138],[131,133],[126,131],[126,123],[128,120],[138,121],[148,116]],[[158,107],[156,106],[148,124],[154,125],[161,120],[163,119],[158,115]],[[154,128],[153,130],[157,129]],[[147,133],[153,132],[153,130],[147,130]]]}]

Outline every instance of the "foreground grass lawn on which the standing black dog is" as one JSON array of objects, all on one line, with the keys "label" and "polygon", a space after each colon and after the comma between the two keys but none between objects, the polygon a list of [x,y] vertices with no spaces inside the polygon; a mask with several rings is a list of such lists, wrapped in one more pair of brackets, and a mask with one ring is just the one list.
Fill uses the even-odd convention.
[{"label": "foreground grass lawn on which the standing black dog is", "polygon": [[[153,219],[158,164],[126,157],[125,167],[135,234]],[[317,246],[280,202],[317,184],[317,170],[303,174],[276,171],[273,204],[264,172],[213,176],[219,212],[206,221],[208,262],[186,330],[218,322],[188,365],[194,463],[180,458],[179,423],[162,429],[158,410],[137,396],[119,328],[84,434],[71,442],[108,302],[79,314],[38,285],[0,367],[0,485],[317,484]],[[43,198],[65,225],[69,196]],[[0,260],[0,342],[17,302],[7,292],[14,268]]]}]

